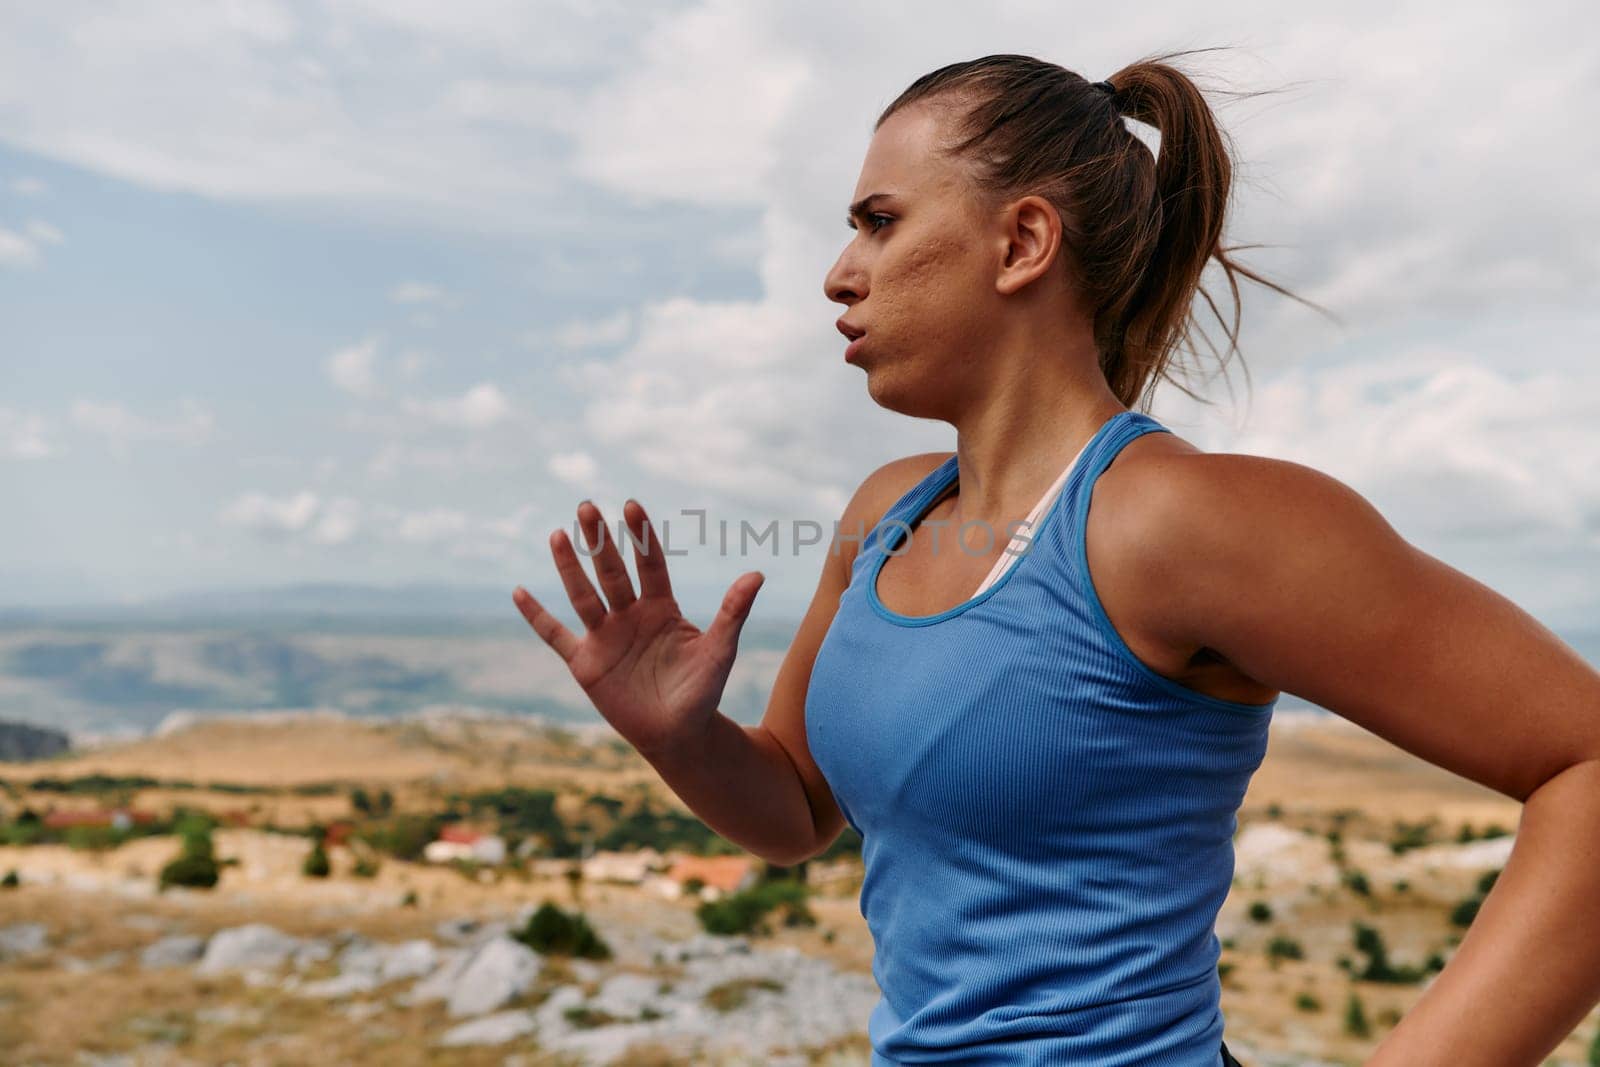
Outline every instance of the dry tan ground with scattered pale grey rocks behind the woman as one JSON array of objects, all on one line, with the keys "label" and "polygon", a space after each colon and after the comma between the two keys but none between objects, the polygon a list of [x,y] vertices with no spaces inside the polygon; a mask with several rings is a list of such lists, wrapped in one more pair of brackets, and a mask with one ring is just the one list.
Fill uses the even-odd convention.
[{"label": "dry tan ground with scattered pale grey rocks behind the woman", "polygon": [[[43,779],[59,789],[141,768],[162,782],[130,787],[122,801],[136,808],[181,800],[285,825],[349,816],[354,782],[392,787],[400,806],[437,803],[440,787],[552,785],[563,817],[590,819],[597,809],[579,801],[592,790],[664,797],[648,766],[603,729],[589,734],[475,718],[174,721],[125,745],[0,766],[0,806],[82,806],[91,800]],[[299,790],[328,781],[341,789]],[[1248,1067],[1362,1064],[1454,952],[1517,817],[1514,801],[1342,720],[1275,718],[1218,917],[1229,1048]],[[166,833],[115,848],[0,845],[0,877],[18,875],[0,888],[0,1062],[869,1061],[877,987],[859,872],[813,881],[814,928],[725,937],[702,929],[694,901],[571,883],[539,864],[464,877],[386,859],[355,877],[354,856],[333,848],[331,877],[307,878],[304,835],[229,822],[214,832],[221,883],[160,893],[154,875],[174,846]],[[581,910],[613,958],[515,939],[544,901]],[[1547,1067],[1587,1064],[1597,1030],[1592,1014]]]}]

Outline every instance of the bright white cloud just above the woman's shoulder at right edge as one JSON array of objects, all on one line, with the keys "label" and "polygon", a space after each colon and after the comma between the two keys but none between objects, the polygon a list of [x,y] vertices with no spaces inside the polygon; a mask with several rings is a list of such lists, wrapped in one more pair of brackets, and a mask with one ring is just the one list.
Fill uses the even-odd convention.
[{"label": "bright white cloud just above the woman's shoulder at right edge", "polygon": [[1253,411],[1229,451],[1323,470],[1408,537],[1600,549],[1600,370],[1510,373],[1418,346],[1278,374]]}]

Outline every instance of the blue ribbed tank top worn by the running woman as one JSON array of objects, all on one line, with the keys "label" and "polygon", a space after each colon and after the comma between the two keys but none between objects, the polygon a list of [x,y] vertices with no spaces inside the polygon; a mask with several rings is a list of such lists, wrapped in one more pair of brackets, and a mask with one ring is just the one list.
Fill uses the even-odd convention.
[{"label": "blue ribbed tank top worn by the running woman", "polygon": [[[955,456],[861,542],[805,720],[862,838],[874,1067],[1222,1062],[1216,915],[1277,697],[1238,704],[1155,673],[1101,606],[1090,491],[1152,432],[1170,430],[1107,419],[1027,552],[947,611],[898,614],[877,576],[955,482]],[[938,549],[958,550],[950,528]]]}]

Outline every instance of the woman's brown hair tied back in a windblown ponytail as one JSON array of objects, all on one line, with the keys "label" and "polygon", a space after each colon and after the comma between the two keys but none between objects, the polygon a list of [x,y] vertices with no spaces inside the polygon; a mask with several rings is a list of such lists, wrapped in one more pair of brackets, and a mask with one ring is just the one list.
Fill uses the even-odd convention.
[{"label": "woman's brown hair tied back in a windblown ponytail", "polygon": [[[874,125],[877,130],[914,102],[946,107],[955,141],[942,150],[965,158],[981,197],[998,205],[1038,194],[1056,206],[1069,275],[1093,315],[1101,371],[1122,403],[1142,405],[1144,411],[1160,379],[1203,402],[1170,374],[1174,352],[1194,350],[1195,333],[1226,371],[1229,354],[1238,350],[1235,275],[1325,310],[1229,254],[1254,245],[1221,245],[1232,141],[1200,88],[1166,62],[1186,54],[1149,56],[1123,67],[1107,78],[1115,90],[1110,94],[1032,56],[954,62],[912,82]],[[1123,115],[1160,131],[1158,157],[1152,158],[1123,125]],[[1234,294],[1232,328],[1200,283],[1213,258]],[[1194,322],[1195,293],[1222,323],[1227,352],[1218,354]]]}]

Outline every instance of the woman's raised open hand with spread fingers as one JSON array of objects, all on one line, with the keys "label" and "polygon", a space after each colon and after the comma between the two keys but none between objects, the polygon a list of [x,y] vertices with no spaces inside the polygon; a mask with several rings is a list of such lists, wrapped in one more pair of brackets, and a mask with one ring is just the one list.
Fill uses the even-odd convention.
[{"label": "woman's raised open hand with spread fingers", "polygon": [[562,625],[522,585],[512,592],[512,601],[533,632],[566,662],[605,720],[648,758],[693,744],[710,723],[733,670],[739,630],[765,577],[760,571],[736,577],[702,632],[683,617],[672,597],[666,555],[638,501],[622,506],[622,520],[632,533],[638,595],[594,502],[578,506],[578,523],[594,552],[605,600],[589,584],[566,531],[550,534],[555,569],[582,619],[582,637]]}]

